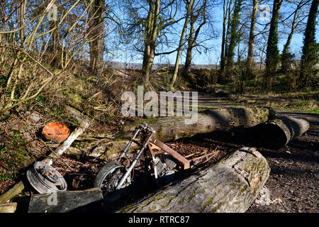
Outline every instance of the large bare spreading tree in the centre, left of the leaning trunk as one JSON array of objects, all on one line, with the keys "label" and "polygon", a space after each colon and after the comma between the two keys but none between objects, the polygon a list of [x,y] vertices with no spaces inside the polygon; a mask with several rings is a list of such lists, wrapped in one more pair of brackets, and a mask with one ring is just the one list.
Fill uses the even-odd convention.
[{"label": "large bare spreading tree in the centre, left of the leaning trunk", "polygon": [[176,18],[179,11],[179,1],[176,0],[126,0],[126,18],[121,23],[121,34],[125,43],[133,43],[135,51],[142,54],[143,83],[148,89],[150,74],[154,58],[159,55],[170,54],[178,50],[157,52],[159,45],[169,47],[169,28],[184,17]]}]

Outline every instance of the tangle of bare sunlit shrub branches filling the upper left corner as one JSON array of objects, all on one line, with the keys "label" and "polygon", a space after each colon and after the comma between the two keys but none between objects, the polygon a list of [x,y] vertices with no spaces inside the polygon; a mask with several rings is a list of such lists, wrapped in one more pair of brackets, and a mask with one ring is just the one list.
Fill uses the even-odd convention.
[{"label": "tangle of bare sunlit shrub branches filling the upper left corner", "polygon": [[[6,5],[6,11],[17,11],[20,9],[20,21],[16,18],[9,17],[4,23],[15,23],[15,27],[11,30],[0,30],[1,44],[0,52],[7,52],[7,55],[1,60],[0,72],[0,116],[6,111],[19,106],[23,102],[34,99],[41,92],[47,89],[48,84],[55,84],[60,79],[60,75],[67,69],[72,67],[72,60],[76,55],[79,55],[84,47],[88,45],[92,39],[88,38],[90,31],[87,30],[89,19],[84,19],[84,14],[87,8],[77,15],[76,20],[69,20],[70,12],[79,6],[81,0],[70,3],[62,1],[58,4],[57,1],[51,0],[49,3],[41,3],[38,6],[33,4],[22,4],[16,6],[16,1],[11,1],[11,4]],[[67,4],[69,3],[69,4]],[[64,13],[59,16],[56,26],[47,26],[50,21],[47,21],[47,14],[52,10],[53,4],[58,4],[59,7],[65,6]],[[13,7],[11,7],[13,6]],[[8,28],[1,24],[1,28]],[[62,28],[65,30],[62,40],[59,40],[61,51],[60,55],[61,69],[50,70],[46,67],[45,52],[52,33]],[[6,35],[20,34],[20,45],[17,42],[9,43],[4,39]],[[42,40],[46,40],[42,43]],[[36,48],[40,45],[40,50]],[[10,67],[4,67],[9,65]]]}]

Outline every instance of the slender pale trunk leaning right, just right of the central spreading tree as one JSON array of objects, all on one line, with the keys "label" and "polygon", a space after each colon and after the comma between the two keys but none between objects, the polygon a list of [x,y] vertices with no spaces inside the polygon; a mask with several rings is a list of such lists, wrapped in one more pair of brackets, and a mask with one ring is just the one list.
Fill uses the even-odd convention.
[{"label": "slender pale trunk leaning right, just right of the central spreading tree", "polygon": [[176,61],[175,61],[175,67],[174,67],[174,74],[173,74],[173,77],[172,77],[172,82],[171,82],[171,84],[169,84],[169,89],[171,91],[174,90],[174,84],[175,84],[176,79],[177,79],[177,73],[179,72],[179,60],[181,58],[182,45],[183,45],[183,42],[184,42],[184,37],[185,37],[185,34],[186,34],[187,26],[189,25],[189,16],[191,15],[191,11],[193,10],[193,5],[194,5],[194,0],[189,0],[189,2],[187,2],[187,4],[186,4],[185,23],[184,23],[183,30],[181,31],[181,38],[179,40],[179,48],[177,50],[177,57],[176,57]]}]

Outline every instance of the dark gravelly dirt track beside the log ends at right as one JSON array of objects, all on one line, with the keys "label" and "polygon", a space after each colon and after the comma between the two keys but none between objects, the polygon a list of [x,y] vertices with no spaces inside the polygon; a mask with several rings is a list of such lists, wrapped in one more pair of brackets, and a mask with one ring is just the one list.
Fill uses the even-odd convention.
[{"label": "dark gravelly dirt track beside the log ends at right", "polygon": [[319,115],[278,111],[306,118],[310,129],[280,150],[260,149],[271,168],[269,205],[256,202],[247,212],[319,212]]}]

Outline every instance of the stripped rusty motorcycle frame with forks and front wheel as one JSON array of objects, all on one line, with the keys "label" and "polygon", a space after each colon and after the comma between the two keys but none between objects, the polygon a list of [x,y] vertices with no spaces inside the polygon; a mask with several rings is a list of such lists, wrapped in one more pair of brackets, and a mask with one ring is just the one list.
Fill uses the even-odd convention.
[{"label": "stripped rusty motorcycle frame with forks and front wheel", "polygon": [[[133,137],[130,138],[117,160],[107,162],[99,170],[94,179],[94,187],[101,189],[105,201],[112,202],[121,197],[125,188],[131,184],[133,169],[146,150],[149,150],[152,156],[148,169],[154,172],[159,187],[171,182],[178,170],[189,169],[190,161],[158,140],[155,133],[147,126],[147,123],[140,124],[135,128]],[[132,143],[137,144],[140,149],[129,167],[125,167],[123,162],[125,162],[128,148]]]}]

